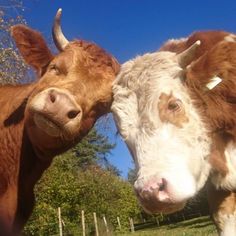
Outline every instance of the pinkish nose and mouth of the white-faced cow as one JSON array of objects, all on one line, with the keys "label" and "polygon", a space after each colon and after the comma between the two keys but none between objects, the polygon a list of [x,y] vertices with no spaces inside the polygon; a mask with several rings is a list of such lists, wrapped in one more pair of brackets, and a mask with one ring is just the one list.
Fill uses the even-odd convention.
[{"label": "pinkish nose and mouth of the white-faced cow", "polygon": [[185,201],[176,202],[168,191],[166,179],[149,181],[142,188],[135,186],[137,197],[148,213],[173,213],[185,206]]}]

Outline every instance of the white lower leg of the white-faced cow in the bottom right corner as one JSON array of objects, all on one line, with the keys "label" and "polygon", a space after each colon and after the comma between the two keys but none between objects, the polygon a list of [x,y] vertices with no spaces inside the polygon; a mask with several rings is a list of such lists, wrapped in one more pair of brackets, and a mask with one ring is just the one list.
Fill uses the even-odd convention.
[{"label": "white lower leg of the white-faced cow in the bottom right corner", "polygon": [[234,236],[236,235],[236,213],[221,214],[217,217],[221,231],[220,236]]}]

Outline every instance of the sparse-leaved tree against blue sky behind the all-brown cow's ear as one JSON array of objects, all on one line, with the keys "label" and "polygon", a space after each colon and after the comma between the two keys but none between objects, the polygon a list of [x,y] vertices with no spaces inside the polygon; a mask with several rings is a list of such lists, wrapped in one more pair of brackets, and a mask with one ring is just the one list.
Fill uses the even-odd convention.
[{"label": "sparse-leaved tree against blue sky behind the all-brown cow's ear", "polygon": [[[2,1],[0,5],[0,83],[15,83],[28,80],[28,67],[17,53],[10,35],[10,28],[15,24],[26,24],[22,2],[17,0]],[[22,81],[24,82],[24,81]]]}]

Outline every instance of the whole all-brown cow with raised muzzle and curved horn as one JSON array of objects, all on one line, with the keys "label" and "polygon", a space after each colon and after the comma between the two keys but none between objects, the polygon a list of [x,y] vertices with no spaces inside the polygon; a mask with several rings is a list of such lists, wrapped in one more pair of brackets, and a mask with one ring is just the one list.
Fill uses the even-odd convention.
[{"label": "whole all-brown cow with raised muzzle and curved horn", "polygon": [[0,235],[18,235],[34,206],[33,188],[55,155],[75,145],[107,113],[119,64],[86,41],[68,42],[53,29],[60,53],[24,26],[12,36],[38,81],[0,87]]}]

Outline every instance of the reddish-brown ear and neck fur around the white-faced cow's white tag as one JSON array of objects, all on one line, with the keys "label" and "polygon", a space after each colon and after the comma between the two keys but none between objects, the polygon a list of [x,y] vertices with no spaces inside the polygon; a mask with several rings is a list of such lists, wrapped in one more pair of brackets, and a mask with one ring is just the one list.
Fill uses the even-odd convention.
[{"label": "reddish-brown ear and neck fur around the white-faced cow's white tag", "polygon": [[[236,132],[236,44],[222,41],[209,50],[186,71],[186,85],[205,122],[209,124],[214,142],[210,162],[217,170],[219,164],[225,172],[224,149],[235,140]],[[223,81],[212,90],[206,84],[214,76]],[[222,138],[223,137],[223,138]],[[219,140],[222,143],[219,145]],[[223,149],[223,150],[220,150]],[[221,154],[221,155],[219,155]],[[221,158],[220,158],[221,157]],[[218,161],[216,161],[218,159]],[[220,160],[221,159],[221,160]]]}]

